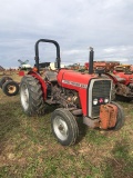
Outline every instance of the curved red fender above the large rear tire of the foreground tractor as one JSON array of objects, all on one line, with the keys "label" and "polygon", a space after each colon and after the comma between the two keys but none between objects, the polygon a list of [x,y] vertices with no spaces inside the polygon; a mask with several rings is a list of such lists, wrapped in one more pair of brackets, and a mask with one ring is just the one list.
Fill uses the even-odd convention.
[{"label": "curved red fender above the large rear tire of the foreground tractor", "polygon": [[42,77],[35,72],[35,71],[29,71],[28,75],[33,76],[35,79],[40,81],[40,85],[42,87],[43,98],[47,99],[47,82],[42,79]]}]

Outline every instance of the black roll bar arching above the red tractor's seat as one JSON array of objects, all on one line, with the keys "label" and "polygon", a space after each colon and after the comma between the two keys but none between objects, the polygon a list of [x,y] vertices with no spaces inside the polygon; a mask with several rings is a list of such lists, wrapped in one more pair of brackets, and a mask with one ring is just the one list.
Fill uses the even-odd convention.
[{"label": "black roll bar arching above the red tractor's seat", "polygon": [[60,58],[60,46],[57,41],[54,40],[49,40],[49,39],[40,39],[35,42],[35,46],[34,46],[34,50],[35,50],[35,66],[37,66],[37,69],[38,69],[38,72],[39,72],[39,43],[40,42],[50,42],[50,43],[53,43],[57,48],[57,67],[58,69],[60,69],[60,62],[61,62],[61,58]]}]

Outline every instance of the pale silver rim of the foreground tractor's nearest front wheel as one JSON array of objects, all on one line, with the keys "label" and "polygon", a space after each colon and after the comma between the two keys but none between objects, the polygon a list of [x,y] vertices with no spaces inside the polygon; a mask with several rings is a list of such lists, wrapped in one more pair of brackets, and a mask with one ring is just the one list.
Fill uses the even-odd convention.
[{"label": "pale silver rim of the foreground tractor's nearest front wheel", "polygon": [[57,137],[60,140],[66,140],[69,136],[69,128],[68,125],[60,116],[55,117],[53,120],[53,129],[57,135]]}]

